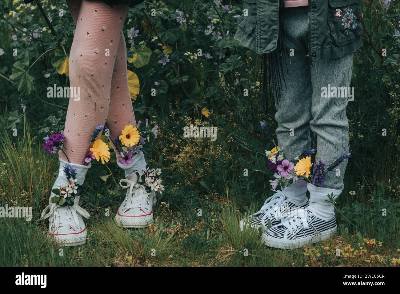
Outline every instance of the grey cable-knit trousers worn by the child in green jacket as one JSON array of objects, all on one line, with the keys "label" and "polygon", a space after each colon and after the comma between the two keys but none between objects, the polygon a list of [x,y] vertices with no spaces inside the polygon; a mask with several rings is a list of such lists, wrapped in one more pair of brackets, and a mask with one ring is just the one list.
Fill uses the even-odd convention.
[{"label": "grey cable-knit trousers worn by the child in green jacket", "polygon": [[[350,86],[354,53],[310,65],[305,57],[307,7],[286,8],[285,11],[285,49],[289,52],[293,49],[294,56],[282,54],[286,87],[283,86],[280,100],[276,103],[275,114],[279,148],[285,158],[293,160],[310,147],[311,129],[317,136],[316,163],[322,160],[327,168],[344,152],[349,152],[348,98],[322,98],[321,88]],[[343,190],[346,164],[347,161],[337,167],[340,176],[336,169],[328,172],[324,178],[325,188]]]}]

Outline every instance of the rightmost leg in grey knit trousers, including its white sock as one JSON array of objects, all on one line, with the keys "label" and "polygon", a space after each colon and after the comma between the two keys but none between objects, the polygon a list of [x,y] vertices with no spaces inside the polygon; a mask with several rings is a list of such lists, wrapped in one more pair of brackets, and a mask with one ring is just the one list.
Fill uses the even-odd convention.
[{"label": "rightmost leg in grey knit trousers, including its white sock", "polygon": [[[321,160],[326,163],[326,168],[336,158],[349,152],[348,120],[346,106],[348,97],[328,98],[321,97],[322,87],[349,87],[352,74],[354,53],[346,54],[340,58],[320,60],[314,62],[311,68],[312,116],[310,127],[317,134],[316,163]],[[339,91],[340,92],[340,91]],[[334,207],[327,195],[333,193],[338,197],[344,188],[343,178],[347,160],[334,170],[327,172],[322,187],[309,185],[310,206],[320,218],[329,219],[334,216]],[[338,169],[338,170],[337,170]]]}]

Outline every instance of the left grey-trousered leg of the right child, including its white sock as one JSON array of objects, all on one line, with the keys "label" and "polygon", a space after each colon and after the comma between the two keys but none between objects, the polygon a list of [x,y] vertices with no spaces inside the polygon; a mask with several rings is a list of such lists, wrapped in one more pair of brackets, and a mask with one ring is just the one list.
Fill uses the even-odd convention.
[{"label": "left grey-trousered leg of the right child, including its white sock", "polygon": [[[276,136],[286,159],[293,160],[310,147],[311,77],[307,53],[307,8],[286,8],[284,22],[284,81],[280,100],[276,103]],[[287,66],[286,66],[287,65]],[[283,80],[283,77],[282,77]],[[306,199],[306,186],[300,182],[284,189],[286,197],[301,205]]]}]

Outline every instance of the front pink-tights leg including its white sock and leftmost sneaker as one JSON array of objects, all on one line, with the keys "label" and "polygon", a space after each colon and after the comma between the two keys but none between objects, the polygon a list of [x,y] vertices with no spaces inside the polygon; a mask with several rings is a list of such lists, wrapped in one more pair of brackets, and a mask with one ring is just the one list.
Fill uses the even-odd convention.
[{"label": "front pink-tights leg including its white sock and leftmost sneaker", "polygon": [[[68,6],[76,22],[70,52],[70,86],[80,87],[80,99],[70,98],[64,129],[65,146],[70,166],[76,172],[76,184],[83,184],[90,165],[82,165],[82,160],[94,128],[106,122],[110,103],[115,56],[113,53],[107,56],[105,52],[106,49],[112,52],[112,46],[118,46],[128,6],[111,8],[103,2],[87,0],[71,0]],[[110,68],[104,66],[105,62]],[[60,153],[60,169],[67,166],[65,159]],[[59,175],[52,189],[67,182],[65,175]],[[53,193],[50,198],[52,196]],[[89,217],[89,214],[78,206],[79,198],[74,199],[74,206],[50,203],[50,212],[46,214],[47,208],[42,212],[43,219],[50,217],[49,234],[58,244],[74,246],[86,242],[87,230],[82,215]]]}]

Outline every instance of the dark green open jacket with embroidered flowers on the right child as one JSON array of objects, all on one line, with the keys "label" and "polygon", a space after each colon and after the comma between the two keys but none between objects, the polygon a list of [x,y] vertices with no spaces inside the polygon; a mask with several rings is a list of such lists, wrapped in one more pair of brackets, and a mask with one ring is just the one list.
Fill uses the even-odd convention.
[{"label": "dark green open jacket with embroidered flowers on the right child", "polygon": [[[340,57],[362,46],[360,0],[308,0],[310,61]],[[235,39],[256,53],[269,53],[278,42],[279,0],[244,0]]]}]

